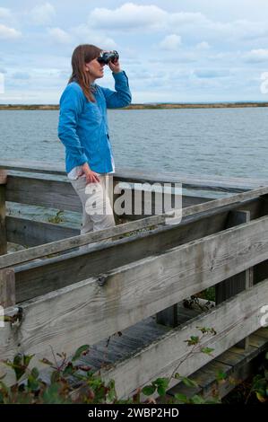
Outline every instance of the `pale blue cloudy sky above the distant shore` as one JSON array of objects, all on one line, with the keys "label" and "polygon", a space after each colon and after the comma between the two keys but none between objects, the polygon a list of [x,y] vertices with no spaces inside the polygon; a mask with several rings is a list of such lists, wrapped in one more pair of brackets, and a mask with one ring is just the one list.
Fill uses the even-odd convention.
[{"label": "pale blue cloudy sky above the distant shore", "polygon": [[117,49],[135,103],[268,101],[267,0],[0,0],[0,103],[58,103],[85,43]]}]

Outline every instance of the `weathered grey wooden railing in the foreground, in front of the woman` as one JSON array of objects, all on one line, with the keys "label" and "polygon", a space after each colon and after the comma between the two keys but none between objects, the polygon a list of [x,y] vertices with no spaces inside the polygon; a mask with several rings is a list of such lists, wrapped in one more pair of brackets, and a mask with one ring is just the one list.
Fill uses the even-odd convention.
[{"label": "weathered grey wooden railing in the foreground, in front of the woman", "polygon": [[[179,362],[179,373],[189,375],[238,342],[246,347],[246,337],[261,327],[261,310],[268,304],[268,188],[258,187],[261,182],[246,182],[250,190],[242,181],[238,185],[242,193],[185,207],[182,223],[174,226],[164,224],[166,215],[153,215],[0,257],[0,292],[5,315],[12,317],[0,330],[1,358],[27,352],[49,359],[51,349],[72,353],[85,342],[96,344],[155,314],[158,321],[176,325],[177,303],[212,286],[215,308],[103,369],[103,376],[115,379],[119,397],[125,397],[171,375]],[[65,180],[12,175],[1,186],[6,186],[8,201],[75,207],[75,194]],[[151,225],[151,230],[139,232]],[[132,236],[89,251],[35,260],[130,232]],[[198,334],[196,327],[216,331],[202,339],[202,347],[214,349],[212,356],[188,356],[185,340]]]}]

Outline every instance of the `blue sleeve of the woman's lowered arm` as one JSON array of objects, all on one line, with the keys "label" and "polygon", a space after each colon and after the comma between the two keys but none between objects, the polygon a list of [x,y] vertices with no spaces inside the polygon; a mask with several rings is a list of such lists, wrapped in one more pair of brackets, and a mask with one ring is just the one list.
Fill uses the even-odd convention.
[{"label": "blue sleeve of the woman's lowered arm", "polygon": [[76,165],[86,163],[87,157],[76,132],[77,121],[83,109],[83,92],[80,86],[69,84],[60,99],[58,137]]}]

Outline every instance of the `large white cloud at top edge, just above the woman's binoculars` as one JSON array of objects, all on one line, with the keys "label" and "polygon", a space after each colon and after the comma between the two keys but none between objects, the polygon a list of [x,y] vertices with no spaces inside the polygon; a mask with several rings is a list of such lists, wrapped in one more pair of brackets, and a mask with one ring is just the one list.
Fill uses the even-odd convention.
[{"label": "large white cloud at top edge, just above the woman's binoculars", "polygon": [[89,25],[109,30],[134,30],[137,28],[159,29],[167,21],[169,13],[155,5],[125,3],[115,10],[96,8],[89,16]]}]

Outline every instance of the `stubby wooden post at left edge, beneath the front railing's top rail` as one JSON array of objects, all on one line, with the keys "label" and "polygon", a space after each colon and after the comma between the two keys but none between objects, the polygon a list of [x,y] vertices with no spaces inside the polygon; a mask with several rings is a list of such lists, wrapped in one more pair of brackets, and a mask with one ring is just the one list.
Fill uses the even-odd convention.
[{"label": "stubby wooden post at left edge, beneath the front railing's top rail", "polygon": [[12,268],[0,269],[0,305],[13,306],[15,299],[15,274]]}]

